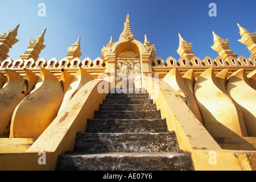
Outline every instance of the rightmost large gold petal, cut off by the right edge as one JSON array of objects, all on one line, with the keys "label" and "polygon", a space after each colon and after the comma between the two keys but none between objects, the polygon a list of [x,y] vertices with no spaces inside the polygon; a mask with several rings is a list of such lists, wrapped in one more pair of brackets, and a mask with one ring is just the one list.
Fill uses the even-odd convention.
[{"label": "rightmost large gold petal, cut off by the right edge", "polygon": [[240,105],[248,135],[256,137],[256,90],[251,88],[245,69],[230,76],[226,92]]}]

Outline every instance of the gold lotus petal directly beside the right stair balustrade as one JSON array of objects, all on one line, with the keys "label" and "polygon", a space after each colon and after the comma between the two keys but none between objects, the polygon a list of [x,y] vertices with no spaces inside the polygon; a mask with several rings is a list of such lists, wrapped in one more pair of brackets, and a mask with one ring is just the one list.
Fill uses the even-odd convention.
[{"label": "gold lotus petal directly beside the right stair balustrade", "polygon": [[179,94],[192,113],[195,114],[196,118],[203,124],[203,119],[196,100],[185,84],[185,81],[181,77],[177,68],[172,69],[166,77],[164,77],[163,81],[166,81],[175,90],[175,92]]}]

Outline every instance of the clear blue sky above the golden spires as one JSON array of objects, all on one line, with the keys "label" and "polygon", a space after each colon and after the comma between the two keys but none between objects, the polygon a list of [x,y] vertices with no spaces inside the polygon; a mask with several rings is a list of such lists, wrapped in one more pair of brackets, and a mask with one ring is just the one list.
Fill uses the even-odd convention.
[{"label": "clear blue sky above the golden spires", "polygon": [[[46,17],[38,16],[38,4],[46,4]],[[209,3],[216,3],[217,16],[210,17]],[[30,42],[47,28],[46,48],[39,58],[47,61],[52,57],[61,60],[67,56],[67,47],[81,36],[81,60],[101,57],[101,48],[113,35],[118,41],[123,22],[129,11],[131,30],[135,39],[144,42],[147,34],[155,44],[156,56],[166,60],[172,56],[179,59],[178,33],[192,42],[193,52],[200,59],[218,55],[213,46],[212,31],[221,38],[229,39],[231,50],[238,56],[250,57],[241,38],[237,23],[250,32],[256,31],[255,0],[9,0],[1,1],[0,32],[7,32],[20,24],[19,42],[10,49],[9,56],[16,60]]]}]

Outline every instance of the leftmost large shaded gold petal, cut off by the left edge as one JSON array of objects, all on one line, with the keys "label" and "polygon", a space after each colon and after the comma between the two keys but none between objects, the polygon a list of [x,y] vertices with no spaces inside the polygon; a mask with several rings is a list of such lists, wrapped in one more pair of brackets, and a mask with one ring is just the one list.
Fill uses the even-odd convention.
[{"label": "leftmost large shaded gold petal, cut off by the left edge", "polygon": [[6,69],[8,80],[4,88],[0,89],[0,137],[9,137],[11,115],[20,101],[26,97],[22,90],[27,90],[26,81],[18,73]]}]

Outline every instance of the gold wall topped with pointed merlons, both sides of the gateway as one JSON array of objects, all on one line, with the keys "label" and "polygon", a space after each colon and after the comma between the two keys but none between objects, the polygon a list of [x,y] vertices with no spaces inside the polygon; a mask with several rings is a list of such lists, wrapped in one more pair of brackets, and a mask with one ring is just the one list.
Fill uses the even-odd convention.
[{"label": "gold wall topped with pointed merlons, both sides of the gateway", "polygon": [[[218,57],[216,59],[218,59]],[[242,69],[242,68],[245,69],[246,75],[249,74],[250,72],[254,71],[256,68],[256,57],[253,56],[253,57],[250,57],[249,59],[247,59],[246,57],[243,57],[243,56],[241,56],[241,57],[243,59],[242,58],[241,59],[240,58],[233,59],[233,60],[236,60],[237,65],[233,64],[233,62],[231,60],[232,57],[229,57],[229,59],[227,59],[227,60],[221,58],[221,60],[223,60],[225,62],[225,65],[222,65],[216,59],[214,61],[212,58],[210,58],[208,56],[203,61],[201,61],[199,58],[197,58],[198,59],[197,63],[199,63],[199,65],[196,64],[195,59],[192,59],[191,61],[186,59],[187,65],[184,65],[183,62],[180,61],[180,60],[183,60],[184,57],[180,57],[179,61],[176,61],[176,59],[174,59],[173,57],[168,58],[166,61],[164,61],[160,57],[156,57],[156,59],[152,62],[150,67],[152,68],[152,73],[159,74],[160,80],[162,80],[167,75],[167,73],[171,71],[172,68],[179,69],[181,76],[183,76],[187,71],[189,71],[189,69],[193,69],[193,71],[195,72],[196,78],[198,78],[201,75],[201,73],[203,73],[206,69],[211,68],[211,67],[214,68],[214,73],[216,73],[216,74],[218,72],[221,72],[223,69],[228,68],[229,69],[228,77],[231,76],[234,72],[238,71],[238,69]],[[210,65],[207,63],[208,59],[213,60],[212,61],[213,65]],[[55,63],[52,65],[52,67],[49,67],[49,64],[51,64],[52,60],[54,60]],[[90,75],[93,76],[94,79],[98,79],[98,78],[101,79],[102,75],[105,75],[104,73],[106,72],[105,61],[102,60],[100,57],[98,57],[97,59],[95,59],[93,61],[90,60],[89,57],[87,57],[86,59],[84,59],[82,61],[80,61],[80,59],[78,59],[78,58],[75,58],[71,61],[64,60],[64,61],[67,61],[67,63],[62,65],[61,63],[63,60],[64,59],[57,61],[56,59],[50,59],[50,60],[46,61],[42,58],[42,59],[39,59],[38,61],[35,61],[34,64],[30,64],[28,67],[26,67],[27,61],[25,64],[24,63],[22,64],[22,61],[20,61],[21,62],[20,64],[22,64],[22,65],[19,65],[18,67],[14,67],[15,63],[18,60],[13,61],[11,59],[7,59],[7,60],[1,62],[0,72],[5,74],[5,69],[12,69],[15,72],[19,73],[19,75],[26,78],[26,73],[24,72],[24,68],[30,69],[36,75],[39,75],[40,68],[46,68],[46,69],[48,69],[48,71],[53,73],[53,75],[55,75],[58,79],[60,79],[61,69],[63,69],[63,68],[65,70],[67,70],[69,73],[71,73],[71,75],[75,75],[75,73],[78,71],[79,68],[84,68],[87,72],[90,73]],[[98,65],[97,65],[97,60],[100,62]],[[158,60],[160,60],[159,65],[158,65]],[[173,65],[170,64],[170,60],[174,61]],[[246,60],[247,63],[249,63],[249,64],[246,65],[243,62],[243,60]],[[8,64],[5,68],[5,67],[3,67],[3,65],[5,65],[6,61],[8,61]],[[44,64],[41,63],[39,66],[40,61],[44,61]]]}]

